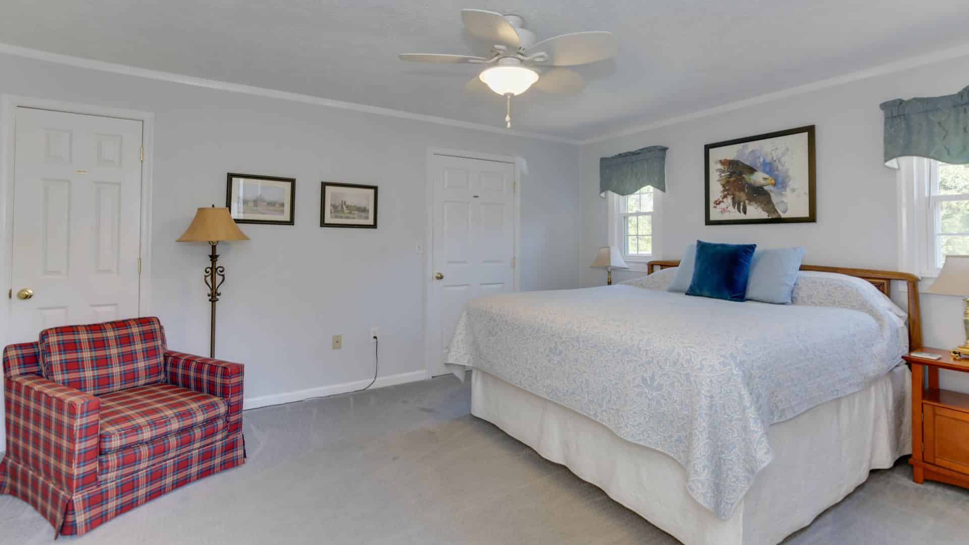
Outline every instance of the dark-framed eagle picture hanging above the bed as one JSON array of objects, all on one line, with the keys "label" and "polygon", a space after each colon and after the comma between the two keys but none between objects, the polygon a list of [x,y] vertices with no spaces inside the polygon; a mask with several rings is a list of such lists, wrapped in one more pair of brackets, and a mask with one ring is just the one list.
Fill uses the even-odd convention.
[{"label": "dark-framed eagle picture hanging above the bed", "polygon": [[817,221],[814,125],[703,150],[706,225]]}]

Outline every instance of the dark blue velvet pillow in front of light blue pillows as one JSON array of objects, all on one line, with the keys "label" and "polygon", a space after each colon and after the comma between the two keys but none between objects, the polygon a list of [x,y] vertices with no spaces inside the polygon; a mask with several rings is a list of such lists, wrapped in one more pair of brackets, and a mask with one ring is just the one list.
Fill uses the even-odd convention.
[{"label": "dark blue velvet pillow in front of light blue pillows", "polygon": [[693,279],[686,295],[744,301],[750,262],[757,244],[717,244],[697,240]]}]

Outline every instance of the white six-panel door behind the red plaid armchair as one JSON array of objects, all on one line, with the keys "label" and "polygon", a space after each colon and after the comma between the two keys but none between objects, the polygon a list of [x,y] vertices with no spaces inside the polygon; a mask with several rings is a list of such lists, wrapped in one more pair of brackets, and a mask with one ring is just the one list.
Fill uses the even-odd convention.
[{"label": "white six-panel door behind the red plaid armchair", "polygon": [[141,124],[16,109],[7,342],[139,315]]}]

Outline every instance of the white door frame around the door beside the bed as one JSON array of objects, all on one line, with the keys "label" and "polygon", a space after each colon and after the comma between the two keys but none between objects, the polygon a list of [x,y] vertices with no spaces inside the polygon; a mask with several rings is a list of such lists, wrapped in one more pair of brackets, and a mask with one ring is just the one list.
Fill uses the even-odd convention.
[{"label": "white door frame around the door beside the bed", "polygon": [[478,151],[468,151],[465,149],[450,149],[447,147],[428,147],[427,148],[427,191],[424,195],[427,202],[427,229],[424,232],[424,253],[426,254],[426,259],[424,260],[423,269],[423,290],[424,290],[424,308],[423,308],[423,336],[424,336],[424,370],[427,372],[427,378],[431,377],[431,361],[436,354],[440,354],[440,347],[434,350],[430,345],[430,335],[427,332],[427,325],[429,323],[429,313],[430,313],[430,296],[431,296],[431,284],[434,279],[431,277],[431,272],[434,270],[434,155],[448,155],[451,157],[463,157],[466,159],[481,159],[483,161],[496,161],[499,163],[510,163],[515,165],[515,178],[513,180],[513,187],[515,187],[515,209],[513,213],[515,214],[515,250],[513,254],[513,259],[515,260],[515,285],[513,289],[518,291],[520,289],[520,271],[521,264],[518,262],[518,248],[521,247],[521,170],[518,166],[518,161],[511,155],[494,155],[492,153],[480,153]]}]

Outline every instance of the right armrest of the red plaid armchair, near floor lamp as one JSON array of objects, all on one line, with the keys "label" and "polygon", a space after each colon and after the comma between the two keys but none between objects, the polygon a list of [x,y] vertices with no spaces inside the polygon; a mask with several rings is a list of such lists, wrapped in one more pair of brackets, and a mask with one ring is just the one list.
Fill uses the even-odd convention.
[{"label": "right armrest of the red plaid armchair, near floor lamp", "polygon": [[242,429],[242,364],[166,350],[165,368],[170,384],[224,398],[229,433]]}]

